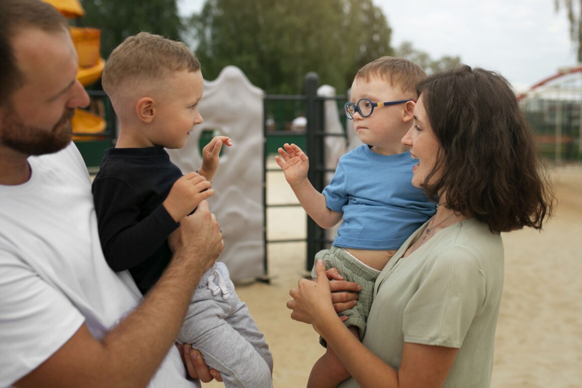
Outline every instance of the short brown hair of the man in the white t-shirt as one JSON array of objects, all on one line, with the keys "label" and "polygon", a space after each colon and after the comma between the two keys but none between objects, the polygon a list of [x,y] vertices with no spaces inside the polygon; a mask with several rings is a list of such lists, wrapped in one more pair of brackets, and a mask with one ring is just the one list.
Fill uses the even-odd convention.
[{"label": "short brown hair of the man in the white t-shirt", "polygon": [[0,0],[0,106],[24,83],[12,47],[13,37],[23,29],[54,32],[68,23],[54,6],[40,0]]}]

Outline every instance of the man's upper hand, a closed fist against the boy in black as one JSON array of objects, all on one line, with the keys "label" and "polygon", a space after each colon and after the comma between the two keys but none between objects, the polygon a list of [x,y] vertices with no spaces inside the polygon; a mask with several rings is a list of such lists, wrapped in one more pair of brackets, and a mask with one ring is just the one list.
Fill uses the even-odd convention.
[{"label": "man's upper hand, a closed fist against the boy in black", "polygon": [[196,259],[204,273],[210,269],[224,248],[222,233],[208,202],[202,201],[192,215],[180,220],[180,227],[168,237],[173,260]]}]

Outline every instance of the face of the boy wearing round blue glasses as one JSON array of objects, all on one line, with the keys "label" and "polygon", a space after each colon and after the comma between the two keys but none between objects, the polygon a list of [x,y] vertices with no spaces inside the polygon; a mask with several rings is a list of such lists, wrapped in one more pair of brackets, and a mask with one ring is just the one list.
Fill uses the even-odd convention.
[{"label": "face of the boy wearing round blue glasses", "polygon": [[[356,79],[352,84],[351,101],[354,104],[361,98],[372,102],[389,102],[409,99],[399,88],[378,77],[370,77],[368,81]],[[353,126],[362,143],[371,145],[372,151],[383,155],[392,155],[400,152],[400,140],[411,122],[404,122],[404,113],[408,104],[377,106],[370,116],[362,117],[354,113]],[[410,117],[411,119],[411,117]]]}]

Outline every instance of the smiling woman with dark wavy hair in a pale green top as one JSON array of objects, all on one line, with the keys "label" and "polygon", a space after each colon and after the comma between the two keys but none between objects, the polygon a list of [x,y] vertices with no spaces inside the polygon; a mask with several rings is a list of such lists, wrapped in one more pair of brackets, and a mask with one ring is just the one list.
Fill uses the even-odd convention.
[{"label": "smiling woman with dark wavy hair in a pale green top", "polygon": [[402,139],[412,183],[438,209],[386,264],[360,343],[333,307],[330,282],[300,280],[288,302],[351,373],[342,387],[487,387],[503,287],[501,232],[541,229],[554,197],[508,82],[461,66],[418,86]]}]

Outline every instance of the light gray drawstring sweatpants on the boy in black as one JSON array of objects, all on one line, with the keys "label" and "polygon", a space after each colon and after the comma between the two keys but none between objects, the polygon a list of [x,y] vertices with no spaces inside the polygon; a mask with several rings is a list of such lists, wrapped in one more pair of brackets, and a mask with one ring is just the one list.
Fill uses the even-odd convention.
[{"label": "light gray drawstring sweatpants on the boy in black", "polygon": [[200,279],[178,341],[198,349],[228,388],[273,386],[273,358],[265,337],[221,262]]}]

